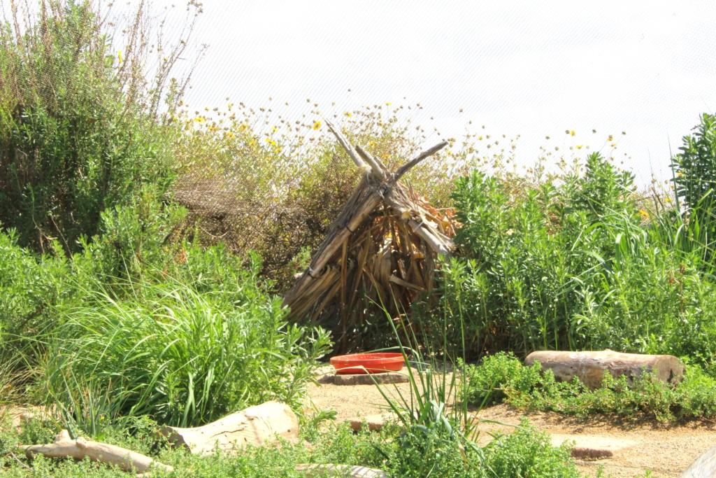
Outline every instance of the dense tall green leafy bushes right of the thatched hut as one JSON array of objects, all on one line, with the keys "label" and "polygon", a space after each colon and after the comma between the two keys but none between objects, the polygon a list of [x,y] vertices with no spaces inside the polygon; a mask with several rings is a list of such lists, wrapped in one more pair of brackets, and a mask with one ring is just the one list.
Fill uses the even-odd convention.
[{"label": "dense tall green leafy bushes right of the thatched hut", "polygon": [[[464,323],[468,356],[611,348],[710,366],[715,284],[697,221],[649,213],[596,154],[584,173],[519,186],[473,172],[455,188],[460,254],[443,265],[432,317]],[[430,310],[422,320],[430,330]]]}]

